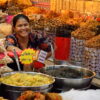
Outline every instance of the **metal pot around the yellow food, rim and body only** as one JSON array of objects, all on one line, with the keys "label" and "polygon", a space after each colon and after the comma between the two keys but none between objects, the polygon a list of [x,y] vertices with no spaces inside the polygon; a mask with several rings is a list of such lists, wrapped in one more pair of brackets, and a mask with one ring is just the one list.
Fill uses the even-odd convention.
[{"label": "metal pot around the yellow food, rim and body only", "polygon": [[[5,73],[2,75],[2,77],[14,74],[17,72],[9,72],[9,73]],[[3,96],[9,100],[16,100],[18,96],[20,96],[20,94],[23,91],[26,90],[32,90],[32,91],[39,91],[39,92],[48,92],[51,90],[51,88],[53,87],[53,83],[55,82],[55,79],[49,75],[46,74],[42,74],[42,73],[37,73],[37,72],[18,72],[18,73],[28,73],[28,74],[41,74],[43,76],[49,77],[51,78],[53,81],[50,84],[47,85],[42,85],[42,86],[12,86],[9,84],[5,84],[5,83],[1,83],[1,88],[3,91]]]}]

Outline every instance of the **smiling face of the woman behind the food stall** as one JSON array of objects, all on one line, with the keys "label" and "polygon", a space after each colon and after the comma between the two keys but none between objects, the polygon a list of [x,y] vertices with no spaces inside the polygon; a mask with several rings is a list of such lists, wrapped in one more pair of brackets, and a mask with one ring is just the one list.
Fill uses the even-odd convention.
[{"label": "smiling face of the woman behind the food stall", "polygon": [[30,31],[30,27],[27,20],[24,18],[18,19],[14,27],[14,32],[20,37],[26,37],[28,36],[29,31]]}]

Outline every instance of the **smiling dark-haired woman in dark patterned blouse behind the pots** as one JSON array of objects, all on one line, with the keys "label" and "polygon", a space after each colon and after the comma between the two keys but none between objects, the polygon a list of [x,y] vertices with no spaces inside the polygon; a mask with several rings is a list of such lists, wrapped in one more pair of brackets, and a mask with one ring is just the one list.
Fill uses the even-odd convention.
[{"label": "smiling dark-haired woman in dark patterned blouse behind the pots", "polygon": [[26,48],[42,49],[48,52],[47,58],[51,56],[49,45],[44,46],[45,37],[30,33],[29,19],[23,14],[18,14],[12,22],[13,34],[6,37],[6,48],[8,51],[20,52]]}]

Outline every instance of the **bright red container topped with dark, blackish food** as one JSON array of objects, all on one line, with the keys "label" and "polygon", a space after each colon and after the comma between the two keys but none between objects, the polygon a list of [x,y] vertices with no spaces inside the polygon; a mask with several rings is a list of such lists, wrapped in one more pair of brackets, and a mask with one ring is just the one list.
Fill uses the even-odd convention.
[{"label": "bright red container topped with dark, blackish food", "polygon": [[56,29],[56,37],[55,37],[55,51],[54,57],[55,61],[68,61],[69,60],[69,52],[70,52],[70,39],[71,32],[75,30],[77,26],[63,24],[58,26]]}]

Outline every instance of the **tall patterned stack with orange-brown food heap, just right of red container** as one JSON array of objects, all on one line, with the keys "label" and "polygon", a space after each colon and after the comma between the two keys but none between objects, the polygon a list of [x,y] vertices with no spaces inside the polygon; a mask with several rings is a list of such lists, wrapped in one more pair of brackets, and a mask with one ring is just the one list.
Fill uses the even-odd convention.
[{"label": "tall patterned stack with orange-brown food heap, just right of red container", "polygon": [[78,28],[71,34],[70,62],[74,65],[83,65],[85,41],[94,37],[95,32],[87,28]]}]

